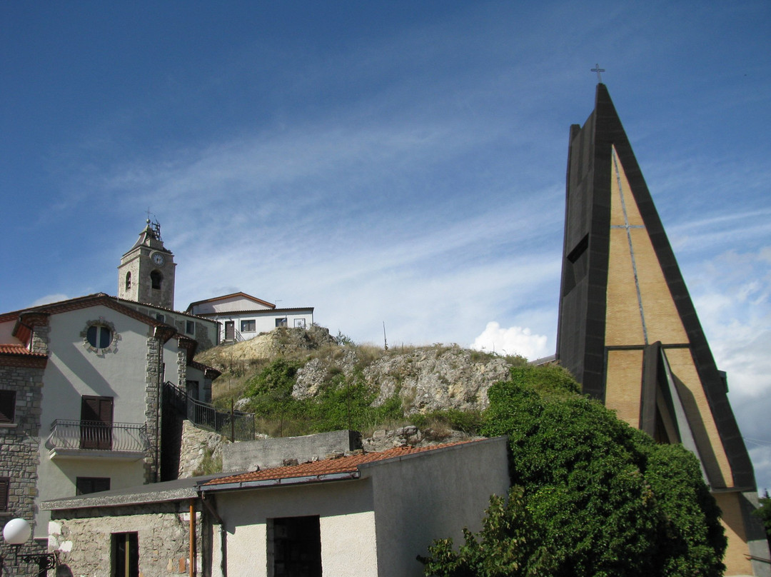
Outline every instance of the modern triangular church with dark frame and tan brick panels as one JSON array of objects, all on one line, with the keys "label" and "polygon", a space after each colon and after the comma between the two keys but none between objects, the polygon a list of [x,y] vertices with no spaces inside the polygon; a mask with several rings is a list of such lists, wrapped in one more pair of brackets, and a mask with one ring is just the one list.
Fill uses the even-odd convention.
[{"label": "modern triangular church with dark frame and tan brick panels", "polygon": [[746,515],[746,500],[756,498],[752,463],[726,380],[602,83],[584,126],[571,127],[563,255],[557,359],[618,417],[694,452],[724,512],[726,575],[751,574],[745,555],[760,546]]}]

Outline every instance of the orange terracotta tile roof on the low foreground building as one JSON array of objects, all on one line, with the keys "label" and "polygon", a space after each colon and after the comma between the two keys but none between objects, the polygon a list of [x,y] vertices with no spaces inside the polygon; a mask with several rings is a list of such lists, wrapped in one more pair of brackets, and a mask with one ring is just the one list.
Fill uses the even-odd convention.
[{"label": "orange terracotta tile roof on the low foreground building", "polygon": [[349,457],[338,457],[336,459],[325,459],[324,461],[315,461],[312,463],[303,463],[290,467],[276,467],[274,469],[264,469],[263,471],[251,471],[250,473],[241,473],[231,477],[218,477],[207,481],[204,486],[218,484],[250,483],[252,481],[271,481],[278,479],[293,479],[298,477],[320,477],[322,475],[337,473],[353,473],[359,470],[359,465],[365,463],[374,463],[375,461],[385,461],[387,459],[396,459],[407,457],[418,453],[425,453],[430,450],[453,447],[467,443],[476,443],[475,440],[463,440],[456,443],[446,443],[442,445],[433,445],[431,447],[395,447],[393,449],[383,450],[379,453],[355,454]]}]

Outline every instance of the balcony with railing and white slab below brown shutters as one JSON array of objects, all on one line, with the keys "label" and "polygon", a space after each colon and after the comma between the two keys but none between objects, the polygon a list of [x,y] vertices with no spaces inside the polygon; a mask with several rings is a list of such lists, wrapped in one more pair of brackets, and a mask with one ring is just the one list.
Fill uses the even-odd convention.
[{"label": "balcony with railing and white slab below brown shutters", "polygon": [[45,441],[49,457],[139,461],[150,448],[147,429],[139,423],[102,423],[57,419]]}]

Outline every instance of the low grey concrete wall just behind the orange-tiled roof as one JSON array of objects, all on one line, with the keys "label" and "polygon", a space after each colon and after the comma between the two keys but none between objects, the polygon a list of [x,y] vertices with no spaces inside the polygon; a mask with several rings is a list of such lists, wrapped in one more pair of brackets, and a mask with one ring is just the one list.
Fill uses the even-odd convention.
[{"label": "low grey concrete wall just behind the orange-tiled roof", "polygon": [[299,463],[338,450],[355,450],[362,447],[361,435],[355,431],[335,430],[305,437],[276,437],[249,440],[223,447],[223,471],[256,471],[279,467],[284,459],[297,459]]}]

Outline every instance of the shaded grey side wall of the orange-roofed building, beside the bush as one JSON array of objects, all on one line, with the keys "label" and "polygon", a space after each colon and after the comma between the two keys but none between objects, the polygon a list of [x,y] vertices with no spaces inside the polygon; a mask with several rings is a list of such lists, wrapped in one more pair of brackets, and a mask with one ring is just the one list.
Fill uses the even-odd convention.
[{"label": "shaded grey side wall of the orange-roofed building, beside the bush", "polygon": [[509,489],[504,437],[362,465],[372,478],[379,577],[419,577],[434,539],[479,531],[490,495]]}]

